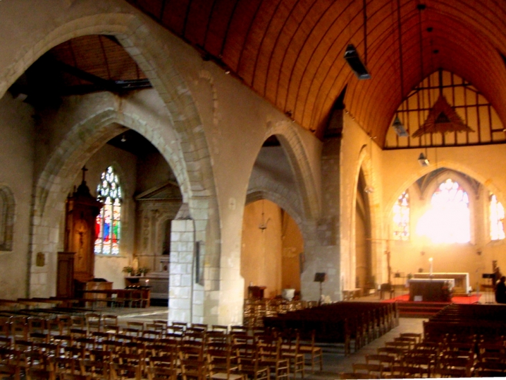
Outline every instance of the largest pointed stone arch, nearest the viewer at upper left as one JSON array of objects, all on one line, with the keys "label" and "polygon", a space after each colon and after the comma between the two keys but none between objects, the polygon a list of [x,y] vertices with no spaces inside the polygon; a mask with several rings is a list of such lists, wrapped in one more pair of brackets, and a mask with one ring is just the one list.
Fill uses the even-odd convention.
[{"label": "largest pointed stone arch, nearest the viewer at upper left", "polygon": [[[28,69],[30,64],[54,46],[82,35],[114,35],[139,64],[152,87],[163,99],[171,114],[171,123],[185,143],[183,154],[186,161],[199,162],[199,165],[195,165],[198,169],[195,167],[188,170],[192,184],[191,193],[195,196],[211,196],[214,192],[212,169],[198,110],[184,78],[171,64],[171,51],[167,47],[166,40],[161,40],[158,35],[152,33],[146,22],[148,20],[141,17],[128,13],[104,13],[80,17],[61,24],[40,40],[31,41],[31,47],[26,51],[20,51],[6,73],[0,77],[0,95],[3,96],[6,89]],[[190,207],[192,203],[190,200]]]}]

